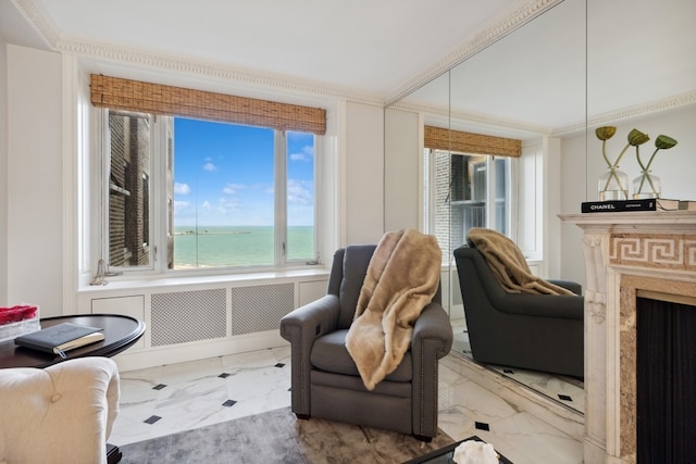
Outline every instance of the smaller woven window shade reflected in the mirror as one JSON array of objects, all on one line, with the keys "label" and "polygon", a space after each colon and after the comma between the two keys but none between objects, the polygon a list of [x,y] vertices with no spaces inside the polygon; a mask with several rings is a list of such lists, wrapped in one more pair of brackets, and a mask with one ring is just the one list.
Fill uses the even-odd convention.
[{"label": "smaller woven window shade reflected in the mirror", "polygon": [[522,140],[470,134],[461,130],[425,126],[425,148],[451,150],[461,153],[522,155]]}]

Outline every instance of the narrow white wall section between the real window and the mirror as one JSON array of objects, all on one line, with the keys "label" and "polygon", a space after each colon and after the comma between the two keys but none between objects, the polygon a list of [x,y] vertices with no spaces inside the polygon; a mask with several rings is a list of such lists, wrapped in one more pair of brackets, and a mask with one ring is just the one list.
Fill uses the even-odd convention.
[{"label": "narrow white wall section between the real window and the mirror", "polygon": [[384,235],[384,109],[346,105],[344,242],[376,243]]}]

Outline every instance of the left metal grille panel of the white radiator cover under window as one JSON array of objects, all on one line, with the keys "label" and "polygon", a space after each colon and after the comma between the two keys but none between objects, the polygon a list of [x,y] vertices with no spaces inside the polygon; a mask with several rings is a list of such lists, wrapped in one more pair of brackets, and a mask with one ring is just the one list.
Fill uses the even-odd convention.
[{"label": "left metal grille panel of the white radiator cover under window", "polygon": [[152,294],[152,346],[225,337],[225,292],[216,288]]}]

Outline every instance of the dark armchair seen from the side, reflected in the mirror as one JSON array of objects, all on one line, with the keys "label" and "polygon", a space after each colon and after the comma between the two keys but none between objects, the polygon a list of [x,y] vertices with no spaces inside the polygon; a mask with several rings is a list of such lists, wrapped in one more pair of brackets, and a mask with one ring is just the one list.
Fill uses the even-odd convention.
[{"label": "dark armchair seen from the side, reflected in the mirror", "polygon": [[508,293],[473,247],[456,249],[455,261],[475,361],[584,377],[583,297]]}]

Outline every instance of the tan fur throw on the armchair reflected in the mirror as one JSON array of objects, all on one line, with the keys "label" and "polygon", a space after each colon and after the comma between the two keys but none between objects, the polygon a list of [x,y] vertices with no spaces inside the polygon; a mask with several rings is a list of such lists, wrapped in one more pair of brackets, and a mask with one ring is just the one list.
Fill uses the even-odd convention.
[{"label": "tan fur throw on the armchair reflected in the mirror", "polygon": [[473,227],[469,230],[467,240],[481,251],[508,293],[575,294],[532,274],[518,246],[505,235],[493,229]]}]

